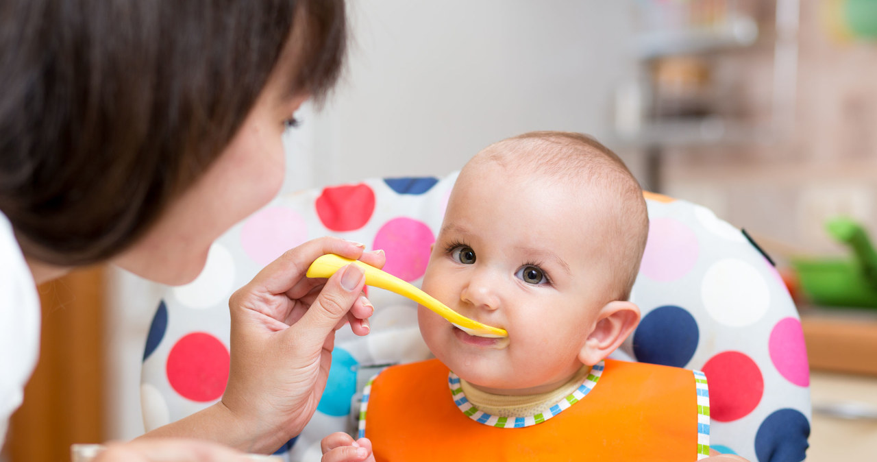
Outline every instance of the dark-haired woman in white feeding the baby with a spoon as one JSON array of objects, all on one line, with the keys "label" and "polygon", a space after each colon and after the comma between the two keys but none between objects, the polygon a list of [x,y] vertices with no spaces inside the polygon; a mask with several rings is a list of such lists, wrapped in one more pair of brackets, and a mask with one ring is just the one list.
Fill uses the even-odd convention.
[{"label": "dark-haired woman in white feeding the baby with a spoon", "polygon": [[[109,262],[192,281],[212,241],[282,182],[281,134],[332,88],[343,0],[10,0],[0,4],[0,441],[36,363],[35,284]],[[211,460],[270,452],[317,407],[334,331],[368,331],[364,278],[309,281],[334,252],[290,250],[232,295],[232,365],[216,405],[102,460]],[[153,439],[192,437],[202,440]]]}]

